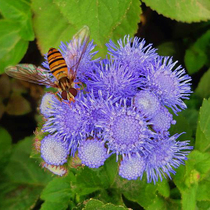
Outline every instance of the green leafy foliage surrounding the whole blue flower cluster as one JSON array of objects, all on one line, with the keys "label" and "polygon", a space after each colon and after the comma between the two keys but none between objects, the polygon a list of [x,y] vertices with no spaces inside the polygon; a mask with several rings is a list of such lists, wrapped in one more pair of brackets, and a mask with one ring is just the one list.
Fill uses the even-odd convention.
[{"label": "green leafy foliage surrounding the whole blue flower cluster", "polygon": [[[158,43],[158,53],[179,59],[193,78],[195,93],[187,102],[189,108],[175,117],[177,124],[170,130],[171,134],[185,131],[179,140],[191,140],[194,146],[186,165],[177,169],[172,181],[164,179],[156,185],[148,184],[146,177],[142,181],[120,178],[114,156],[99,169],[69,167],[65,177],[52,177],[30,158],[33,137],[12,144],[11,134],[0,127],[0,209],[210,208],[210,1],[142,2],[0,0],[0,73],[6,66],[21,61],[26,51],[30,51],[29,41],[36,39],[43,55],[49,47],[69,41],[83,25],[90,28],[90,39],[97,44],[101,57],[106,54],[104,44],[109,39],[116,41],[137,32],[144,34],[141,30],[151,28],[153,31],[149,31],[146,40],[156,34],[155,38],[161,37],[155,21],[150,19],[150,14],[156,11],[173,20],[171,34]],[[164,24],[161,22],[158,27],[164,28]],[[37,95],[41,95],[33,86],[20,85],[5,75],[0,77],[0,89],[0,118],[5,113],[30,114],[33,109],[25,95],[36,101]]]}]

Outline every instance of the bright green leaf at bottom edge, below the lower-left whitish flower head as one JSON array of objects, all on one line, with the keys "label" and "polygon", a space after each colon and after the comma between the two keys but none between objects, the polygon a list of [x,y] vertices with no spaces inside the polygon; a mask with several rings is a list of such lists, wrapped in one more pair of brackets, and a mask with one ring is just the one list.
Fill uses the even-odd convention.
[{"label": "bright green leaf at bottom edge, below the lower-left whitish flower head", "polygon": [[71,190],[71,182],[75,180],[74,174],[71,172],[66,177],[56,177],[48,183],[41,194],[41,198],[45,200],[42,205],[43,209],[67,209],[70,198],[74,197]]}]

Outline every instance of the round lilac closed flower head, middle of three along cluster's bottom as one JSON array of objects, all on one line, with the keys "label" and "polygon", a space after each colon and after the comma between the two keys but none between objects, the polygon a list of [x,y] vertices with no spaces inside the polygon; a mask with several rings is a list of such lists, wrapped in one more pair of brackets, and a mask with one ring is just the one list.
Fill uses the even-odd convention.
[{"label": "round lilac closed flower head, middle of three along cluster's bottom", "polygon": [[82,163],[90,168],[102,166],[109,157],[103,141],[97,138],[83,140],[78,147],[78,157]]}]

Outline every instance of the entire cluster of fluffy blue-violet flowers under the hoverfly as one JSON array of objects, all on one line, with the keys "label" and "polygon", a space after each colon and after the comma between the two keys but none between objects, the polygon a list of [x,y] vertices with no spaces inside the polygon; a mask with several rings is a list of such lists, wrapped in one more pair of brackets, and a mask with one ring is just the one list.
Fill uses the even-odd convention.
[{"label": "entire cluster of fluffy blue-violet flowers under the hoverfly", "polygon": [[[82,164],[98,168],[114,154],[125,179],[141,179],[144,172],[148,182],[170,177],[192,149],[189,141],[177,140],[181,134],[169,132],[176,123],[169,110],[177,115],[186,108],[191,78],[145,40],[125,36],[106,46],[110,58],[93,60],[94,45],[88,44],[77,74],[86,89],[75,103],[52,93],[43,97],[48,135],[41,141],[41,157],[48,168],[61,167],[76,153]],[[69,50],[62,43],[70,68]],[[47,61],[43,65],[49,68]]]}]

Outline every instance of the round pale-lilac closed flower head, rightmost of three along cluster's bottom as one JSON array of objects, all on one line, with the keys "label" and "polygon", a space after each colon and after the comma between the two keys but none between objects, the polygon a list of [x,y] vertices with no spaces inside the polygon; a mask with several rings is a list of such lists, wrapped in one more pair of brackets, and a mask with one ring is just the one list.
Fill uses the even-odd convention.
[{"label": "round pale-lilac closed flower head, rightmost of three along cluster's bottom", "polygon": [[123,157],[120,162],[119,175],[128,180],[142,179],[146,161],[144,157],[131,155]]}]

